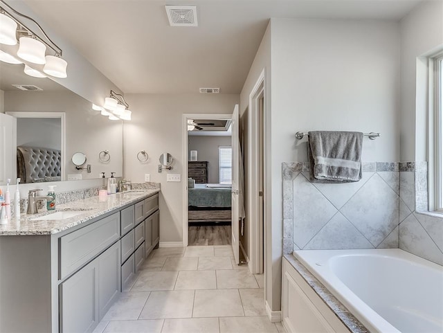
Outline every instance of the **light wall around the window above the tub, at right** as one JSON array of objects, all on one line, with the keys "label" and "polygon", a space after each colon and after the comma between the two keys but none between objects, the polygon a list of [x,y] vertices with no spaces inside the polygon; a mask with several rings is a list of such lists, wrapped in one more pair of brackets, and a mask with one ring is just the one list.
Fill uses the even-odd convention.
[{"label": "light wall around the window above the tub, at right", "polygon": [[428,160],[426,62],[417,58],[439,49],[443,49],[443,2],[426,1],[401,20],[401,161]]}]

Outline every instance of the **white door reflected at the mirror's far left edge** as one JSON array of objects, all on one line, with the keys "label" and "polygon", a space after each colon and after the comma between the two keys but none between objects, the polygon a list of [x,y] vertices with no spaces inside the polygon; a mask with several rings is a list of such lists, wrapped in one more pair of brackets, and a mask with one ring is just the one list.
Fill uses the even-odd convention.
[{"label": "white door reflected at the mirror's far left edge", "polygon": [[0,113],[0,184],[15,183],[17,165],[17,119]]}]

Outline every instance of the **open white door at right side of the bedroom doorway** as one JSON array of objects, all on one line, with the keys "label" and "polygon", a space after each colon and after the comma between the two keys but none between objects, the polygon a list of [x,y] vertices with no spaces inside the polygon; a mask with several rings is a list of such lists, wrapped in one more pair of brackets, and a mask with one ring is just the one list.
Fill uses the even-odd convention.
[{"label": "open white door at right side of the bedroom doorway", "polygon": [[234,251],[235,262],[239,264],[239,114],[238,105],[235,105],[232,118],[232,151],[233,151],[233,168],[232,168],[232,245]]}]

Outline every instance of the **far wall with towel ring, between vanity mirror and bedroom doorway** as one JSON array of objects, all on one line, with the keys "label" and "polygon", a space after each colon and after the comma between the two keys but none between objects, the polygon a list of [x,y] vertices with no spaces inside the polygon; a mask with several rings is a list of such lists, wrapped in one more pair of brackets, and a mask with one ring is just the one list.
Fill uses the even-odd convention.
[{"label": "far wall with towel ring, between vanity mirror and bedroom doorway", "polygon": [[[181,242],[183,233],[183,114],[232,114],[238,95],[201,94],[127,94],[125,99],[131,105],[132,121],[125,123],[125,177],[132,182],[143,182],[144,175],[161,183],[160,193],[160,241]],[[146,163],[137,160],[137,153],[146,150]],[[157,172],[159,156],[163,152],[172,154],[173,169]],[[166,182],[166,174],[181,174],[180,183]]]}]

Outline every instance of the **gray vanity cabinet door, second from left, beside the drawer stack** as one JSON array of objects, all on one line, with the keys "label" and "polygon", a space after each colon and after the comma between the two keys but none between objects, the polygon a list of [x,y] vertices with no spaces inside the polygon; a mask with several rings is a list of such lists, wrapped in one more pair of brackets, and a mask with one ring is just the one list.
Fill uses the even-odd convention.
[{"label": "gray vanity cabinet door, second from left, beside the drawer stack", "polygon": [[98,260],[98,317],[101,321],[120,293],[120,242]]}]

